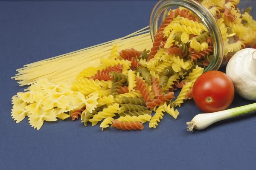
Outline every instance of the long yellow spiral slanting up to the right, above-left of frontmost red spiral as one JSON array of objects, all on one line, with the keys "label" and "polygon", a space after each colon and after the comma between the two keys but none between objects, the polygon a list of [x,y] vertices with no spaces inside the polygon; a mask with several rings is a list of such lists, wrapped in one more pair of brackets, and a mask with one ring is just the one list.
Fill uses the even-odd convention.
[{"label": "long yellow spiral slanting up to the right, above-left of frontmost red spiral", "polygon": [[108,108],[103,109],[103,111],[100,111],[98,114],[94,115],[93,118],[89,121],[92,122],[92,125],[94,126],[103,118],[115,116],[115,113],[117,113],[118,110],[119,104],[115,103],[113,105],[108,106]]}]

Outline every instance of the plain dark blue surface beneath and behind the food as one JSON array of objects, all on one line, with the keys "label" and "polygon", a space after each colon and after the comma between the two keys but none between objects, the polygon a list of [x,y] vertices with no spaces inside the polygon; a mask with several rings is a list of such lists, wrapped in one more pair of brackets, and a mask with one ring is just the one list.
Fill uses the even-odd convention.
[{"label": "plain dark blue surface beneath and behind the food", "polygon": [[[186,122],[200,113],[192,100],[179,108],[177,120],[165,115],[155,130],[146,124],[142,131],[111,128],[102,132],[99,125],[84,127],[71,119],[45,122],[41,130],[34,130],[27,118],[18,124],[12,120],[11,98],[23,91],[10,78],[17,68],[148,26],[156,3],[0,1],[1,170],[256,169],[256,116],[190,133]],[[236,95],[231,107],[250,103]]]}]

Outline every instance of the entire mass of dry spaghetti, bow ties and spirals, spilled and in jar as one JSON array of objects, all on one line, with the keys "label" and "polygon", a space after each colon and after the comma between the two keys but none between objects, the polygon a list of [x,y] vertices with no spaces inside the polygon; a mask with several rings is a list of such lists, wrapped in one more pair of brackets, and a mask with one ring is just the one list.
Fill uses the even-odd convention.
[{"label": "entire mass of dry spaghetti, bow ties and spirals, spilled and in jar", "polygon": [[[217,20],[226,60],[256,41],[256,22],[248,12],[242,14],[236,8],[239,1],[201,3]],[[196,79],[212,60],[212,38],[204,23],[184,8],[169,11],[153,44],[148,33],[139,32],[111,42],[111,46],[102,45],[101,53],[96,52],[100,50],[97,47],[85,50],[90,59],[82,58],[83,52],[78,51],[20,69],[14,78],[31,86],[12,98],[12,119],[18,123],[27,116],[37,130],[45,121],[57,118],[80,117],[85,126],[100,124],[102,130],[142,130],[145,123],[156,128],[166,113],[176,119],[176,108],[192,99]],[[60,70],[50,70],[41,77],[33,74],[41,74],[38,65],[44,70],[55,62],[68,65],[68,59],[96,65],[79,70],[70,65],[60,77],[56,76]]]}]

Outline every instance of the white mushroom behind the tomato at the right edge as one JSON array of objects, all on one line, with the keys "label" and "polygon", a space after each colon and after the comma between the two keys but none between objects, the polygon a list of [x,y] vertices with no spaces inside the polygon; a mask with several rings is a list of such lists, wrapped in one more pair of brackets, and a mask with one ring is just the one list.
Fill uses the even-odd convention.
[{"label": "white mushroom behind the tomato at the right edge", "polygon": [[238,51],[228,62],[226,74],[232,79],[237,94],[256,100],[256,49]]}]

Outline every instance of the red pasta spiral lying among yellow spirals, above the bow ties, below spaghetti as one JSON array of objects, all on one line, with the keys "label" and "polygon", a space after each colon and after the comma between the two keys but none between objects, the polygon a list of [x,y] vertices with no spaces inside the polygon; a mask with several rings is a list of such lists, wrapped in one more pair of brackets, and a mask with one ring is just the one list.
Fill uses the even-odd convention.
[{"label": "red pasta spiral lying among yellow spirals, above the bow ties, below spaghetti", "polygon": [[102,71],[98,70],[96,75],[92,77],[92,79],[96,80],[113,80],[113,77],[110,77],[110,72],[111,71],[115,71],[117,73],[122,73],[122,65],[118,64],[118,65],[115,65],[115,66],[110,66],[106,69],[103,69]]}]

